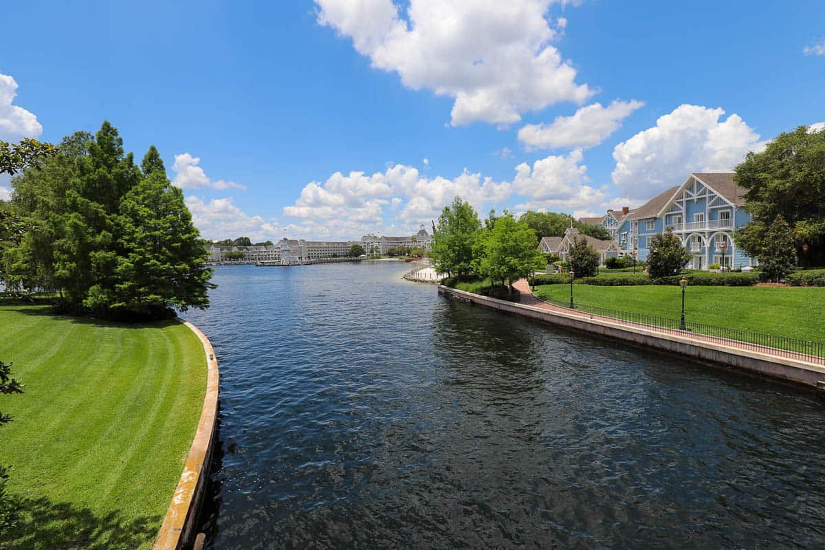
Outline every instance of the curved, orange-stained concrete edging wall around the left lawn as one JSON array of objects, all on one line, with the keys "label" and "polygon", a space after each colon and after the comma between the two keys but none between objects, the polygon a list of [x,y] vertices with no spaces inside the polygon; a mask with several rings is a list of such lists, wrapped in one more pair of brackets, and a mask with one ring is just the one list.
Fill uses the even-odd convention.
[{"label": "curved, orange-stained concrete edging wall around the left lawn", "polygon": [[204,407],[200,411],[200,421],[195,439],[186,457],[186,464],[177,482],[172,503],[163,518],[154,550],[177,550],[194,542],[197,534],[197,519],[209,477],[210,460],[214,449],[216,427],[218,425],[218,360],[209,338],[198,327],[188,321],[181,321],[198,336],[206,354],[206,395]]}]

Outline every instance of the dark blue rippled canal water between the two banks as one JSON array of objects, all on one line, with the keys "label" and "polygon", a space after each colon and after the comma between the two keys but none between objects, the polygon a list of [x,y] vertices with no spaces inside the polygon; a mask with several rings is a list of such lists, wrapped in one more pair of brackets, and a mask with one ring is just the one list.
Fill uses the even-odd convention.
[{"label": "dark blue rippled canal water between the two banks", "polygon": [[823,548],[825,401],[409,266],[227,266],[210,548]]}]

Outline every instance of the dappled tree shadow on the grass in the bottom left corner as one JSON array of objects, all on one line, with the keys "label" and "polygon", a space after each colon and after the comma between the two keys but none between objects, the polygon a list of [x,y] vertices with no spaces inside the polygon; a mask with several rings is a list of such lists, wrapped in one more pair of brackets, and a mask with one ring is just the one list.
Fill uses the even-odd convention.
[{"label": "dappled tree shadow on the grass in the bottom left corner", "polygon": [[159,515],[125,519],[118,511],[96,515],[69,502],[26,499],[16,525],[0,532],[0,548],[138,548],[157,536],[161,519]]}]

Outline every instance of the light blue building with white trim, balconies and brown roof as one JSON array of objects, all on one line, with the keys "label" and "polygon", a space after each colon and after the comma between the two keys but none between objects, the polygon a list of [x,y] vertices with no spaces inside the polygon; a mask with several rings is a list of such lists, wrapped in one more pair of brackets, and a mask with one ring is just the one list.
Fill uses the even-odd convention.
[{"label": "light blue building with white trim, balconies and brown roof", "polygon": [[[691,251],[693,269],[706,270],[710,264],[723,262],[728,268],[754,266],[756,259],[733,242],[736,229],[751,221],[743,208],[744,193],[733,182],[733,172],[695,172],[681,186],[664,191],[639,208],[623,209],[620,217],[608,210],[594,224],[608,231],[609,226],[617,226],[614,239],[620,253],[636,256],[639,261],[648,256],[650,237],[669,230]],[[592,220],[582,219],[585,223]]]}]

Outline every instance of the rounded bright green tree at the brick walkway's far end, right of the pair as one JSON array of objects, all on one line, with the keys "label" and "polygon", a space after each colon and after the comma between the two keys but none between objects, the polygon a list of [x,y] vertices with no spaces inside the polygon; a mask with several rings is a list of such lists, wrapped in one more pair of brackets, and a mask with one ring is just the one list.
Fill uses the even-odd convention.
[{"label": "rounded bright green tree at the brick walkway's far end, right of the pair", "polygon": [[482,254],[476,263],[480,275],[512,284],[544,265],[544,256],[535,247],[535,232],[526,223],[516,222],[505,210],[491,225],[492,229],[485,229],[479,237],[476,248]]}]

